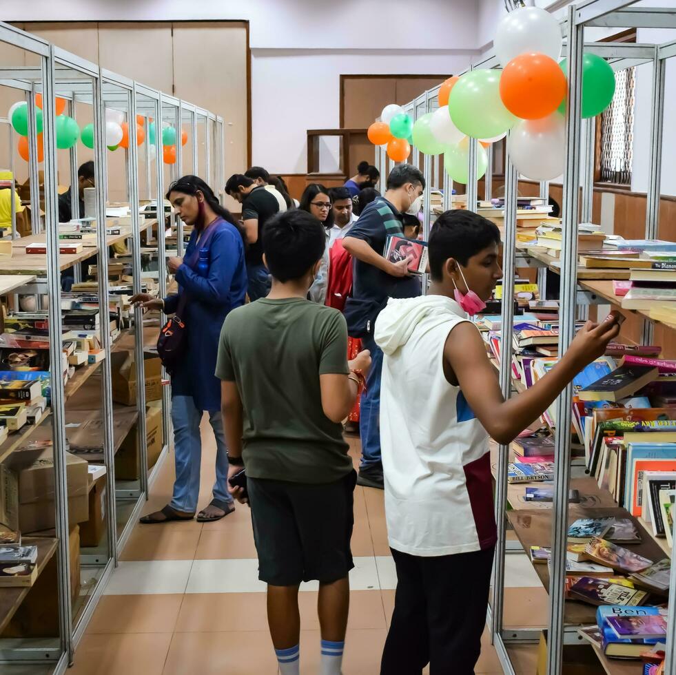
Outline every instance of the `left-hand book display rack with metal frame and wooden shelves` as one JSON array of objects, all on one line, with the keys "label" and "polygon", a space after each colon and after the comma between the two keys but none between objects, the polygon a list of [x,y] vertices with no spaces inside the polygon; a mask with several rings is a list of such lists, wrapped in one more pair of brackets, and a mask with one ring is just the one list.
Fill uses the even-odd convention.
[{"label": "left-hand book display rack with metal frame and wooden shelves", "polygon": [[[4,665],[34,663],[63,673],[72,663],[74,649],[139,517],[161,461],[170,450],[170,391],[163,386],[168,382],[164,371],[155,378],[154,390],[149,388],[152,377],[147,375],[144,363],[144,352],[147,360],[163,315],[144,318],[141,309],[130,309],[121,299],[116,300],[116,307],[124,311],[116,327],[109,328],[107,312],[99,311],[99,357],[78,366],[64,382],[62,280],[72,276],[77,284],[82,281],[83,270],[88,271],[87,265],[95,264],[96,287],[77,292],[90,295],[91,303],[95,296],[94,304],[99,308],[112,307],[112,299],[121,298],[114,295],[112,287],[123,283],[131,285],[129,295],[141,292],[145,284],[161,297],[165,295],[172,284],[165,267],[166,230],[171,227],[176,231],[181,256],[183,225],[173,212],[160,212],[164,210],[163,195],[170,182],[186,172],[202,176],[216,194],[221,194],[225,132],[220,116],[105,70],[12,25],[0,23],[0,43],[0,92],[6,95],[3,101],[27,104],[32,231],[28,237],[17,238],[12,209],[12,255],[0,256],[0,296],[15,309],[34,298],[36,309],[44,308],[50,328],[45,337],[50,405],[35,424],[10,433],[0,443],[0,470],[10,468],[14,475],[23,472],[28,466],[22,464],[27,457],[24,451],[31,443],[43,444],[51,467],[42,474],[43,489],[50,495],[42,512],[50,514],[51,528],[41,527],[36,535],[35,528],[27,529],[23,537],[26,546],[32,543],[38,548],[37,579],[30,587],[0,588],[0,670]],[[42,98],[39,103],[37,94]],[[59,149],[57,97],[59,105],[65,104],[63,112],[79,127],[93,125],[93,149],[80,145],[80,141],[70,149]],[[109,152],[105,125],[112,111],[127,122],[136,121],[145,127],[145,141],[136,145],[132,138],[127,149]],[[4,162],[12,167],[14,190],[18,136],[9,121],[1,122],[9,129],[10,156]],[[157,127],[152,145],[148,134],[151,123]],[[174,164],[162,161],[163,123],[177,130]],[[181,130],[187,134],[185,144],[181,143]],[[43,143],[43,163],[37,161],[39,143]],[[96,223],[105,223],[106,227],[96,227],[95,240],[92,236],[83,242],[78,253],[60,253],[57,183],[61,178],[64,183],[77,185],[78,167],[90,159],[94,161],[96,191],[95,204],[89,205],[88,211]],[[72,217],[83,218],[85,214],[77,213],[78,200],[73,202]],[[127,207],[127,215],[107,213],[107,209],[120,205]],[[107,231],[110,227],[114,230]],[[25,253],[26,245],[36,243],[44,244],[46,253]],[[111,275],[112,264],[119,262],[125,265],[125,274],[131,272],[130,277]],[[122,380],[118,365],[121,356],[127,361]],[[122,391],[128,397],[124,402],[118,393],[120,382],[127,384]],[[141,382],[145,387],[136,386]],[[147,391],[152,391],[148,397],[153,400],[146,400]],[[68,450],[76,450],[73,435],[83,428],[83,420],[95,430],[92,434],[99,446],[99,455],[91,455],[90,464],[105,466],[105,477],[89,479],[87,492],[79,494],[77,506],[72,493],[72,464],[79,461],[82,465],[83,455],[74,459]],[[14,499],[20,502],[20,481],[16,492]],[[86,543],[83,521],[78,528],[78,520],[73,520],[78,508],[81,511],[82,499],[89,501],[90,516],[92,503],[98,502],[101,507],[99,528],[87,535]],[[14,505],[20,519],[21,506]],[[0,515],[3,519],[6,516]],[[35,607],[39,611],[34,611]]]}]

